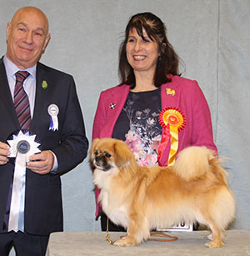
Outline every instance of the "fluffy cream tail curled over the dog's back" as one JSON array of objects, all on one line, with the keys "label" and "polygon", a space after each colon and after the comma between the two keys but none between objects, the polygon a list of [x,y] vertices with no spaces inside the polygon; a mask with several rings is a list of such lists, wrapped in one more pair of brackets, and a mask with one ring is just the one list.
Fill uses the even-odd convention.
[{"label": "fluffy cream tail curled over the dog's back", "polygon": [[204,174],[213,172],[224,183],[228,183],[228,174],[220,165],[218,156],[206,147],[188,147],[183,149],[173,165],[173,170],[183,179],[189,181],[202,178]]}]

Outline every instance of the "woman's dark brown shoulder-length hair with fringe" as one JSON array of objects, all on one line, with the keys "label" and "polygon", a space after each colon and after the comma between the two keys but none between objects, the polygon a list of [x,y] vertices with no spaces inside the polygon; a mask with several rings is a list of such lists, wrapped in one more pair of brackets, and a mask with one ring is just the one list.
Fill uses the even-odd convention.
[{"label": "woman's dark brown shoulder-length hair with fringe", "polygon": [[[128,63],[126,54],[126,45],[128,43],[128,34],[135,28],[138,35],[143,38],[143,28],[148,37],[158,43],[159,57],[154,74],[154,85],[160,87],[163,83],[168,83],[170,80],[167,74],[178,75],[179,58],[175,53],[173,46],[168,42],[167,29],[164,23],[153,13],[138,13],[130,18],[125,30],[125,38],[120,46],[119,54],[119,77],[122,83],[131,85],[135,88],[135,77],[133,68]],[[144,38],[143,38],[144,40]]]}]

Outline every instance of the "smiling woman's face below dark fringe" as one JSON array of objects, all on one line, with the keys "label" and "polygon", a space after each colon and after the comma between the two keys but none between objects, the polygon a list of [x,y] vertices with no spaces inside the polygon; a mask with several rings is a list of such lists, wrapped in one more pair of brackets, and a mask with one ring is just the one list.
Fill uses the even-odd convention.
[{"label": "smiling woman's face below dark fringe", "polygon": [[126,45],[128,63],[135,74],[138,72],[154,74],[159,56],[158,43],[148,37],[144,28],[143,37],[144,40],[138,35],[136,28],[129,32]]}]

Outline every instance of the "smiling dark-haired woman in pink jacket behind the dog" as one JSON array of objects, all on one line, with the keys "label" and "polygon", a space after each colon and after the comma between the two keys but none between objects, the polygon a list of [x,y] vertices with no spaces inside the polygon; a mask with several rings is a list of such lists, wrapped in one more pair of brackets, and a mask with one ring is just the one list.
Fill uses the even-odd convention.
[{"label": "smiling dark-haired woman in pink jacket behind the dog", "polygon": [[[178,76],[178,64],[160,18],[134,15],[120,47],[122,83],[101,93],[92,139],[122,139],[139,165],[173,164],[178,152],[190,145],[217,152],[208,103],[196,81]],[[106,230],[107,216],[98,203],[96,215]],[[109,223],[109,230],[122,229]]]}]

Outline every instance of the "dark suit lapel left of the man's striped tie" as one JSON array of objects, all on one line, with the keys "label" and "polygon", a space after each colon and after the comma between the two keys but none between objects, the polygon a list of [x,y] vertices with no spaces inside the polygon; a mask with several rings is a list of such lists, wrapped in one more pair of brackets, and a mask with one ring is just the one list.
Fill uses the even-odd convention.
[{"label": "dark suit lapel left of the man's striped tie", "polygon": [[20,126],[14,108],[12,94],[10,92],[9,85],[7,82],[7,74],[5,71],[3,59],[0,60],[0,88],[0,98],[2,100],[3,105],[5,106],[5,109],[1,109],[1,112],[5,111],[6,113],[8,113],[11,116],[11,119],[13,120],[15,127],[19,129]]}]

